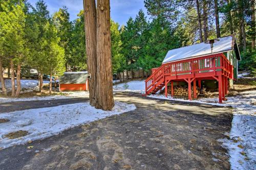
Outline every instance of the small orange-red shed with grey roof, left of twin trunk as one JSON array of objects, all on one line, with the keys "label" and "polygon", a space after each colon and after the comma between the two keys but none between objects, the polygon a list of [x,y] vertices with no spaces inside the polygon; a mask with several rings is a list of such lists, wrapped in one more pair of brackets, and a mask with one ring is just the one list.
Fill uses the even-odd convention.
[{"label": "small orange-red shed with grey roof, left of twin trunk", "polygon": [[59,91],[89,90],[89,78],[88,71],[64,72],[59,78]]}]

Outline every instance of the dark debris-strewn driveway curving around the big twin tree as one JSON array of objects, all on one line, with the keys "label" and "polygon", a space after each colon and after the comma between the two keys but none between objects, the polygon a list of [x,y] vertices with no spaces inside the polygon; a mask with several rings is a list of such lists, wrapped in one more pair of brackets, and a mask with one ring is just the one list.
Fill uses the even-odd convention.
[{"label": "dark debris-strewn driveway curving around the big twin tree", "polygon": [[[26,109],[69,100],[26,102]],[[4,149],[0,169],[229,169],[227,151],[217,139],[230,130],[230,108],[125,93],[116,93],[115,100],[137,109]],[[0,107],[11,111],[22,105]]]}]

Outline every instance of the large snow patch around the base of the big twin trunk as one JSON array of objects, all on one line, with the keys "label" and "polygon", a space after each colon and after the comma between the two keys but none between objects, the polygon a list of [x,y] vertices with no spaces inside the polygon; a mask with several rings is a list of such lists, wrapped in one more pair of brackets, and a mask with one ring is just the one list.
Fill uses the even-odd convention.
[{"label": "large snow patch around the base of the big twin trunk", "polygon": [[[75,126],[135,109],[134,104],[115,102],[112,111],[103,111],[95,109],[88,102],[1,113],[0,118],[9,119],[10,122],[0,124],[0,148],[44,139]],[[29,134],[16,139],[4,138],[6,134],[19,130],[28,131]]]}]

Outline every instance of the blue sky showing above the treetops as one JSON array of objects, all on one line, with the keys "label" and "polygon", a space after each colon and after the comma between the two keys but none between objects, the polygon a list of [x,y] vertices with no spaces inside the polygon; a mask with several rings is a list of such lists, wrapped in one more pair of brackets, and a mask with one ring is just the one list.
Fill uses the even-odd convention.
[{"label": "blue sky showing above the treetops", "polygon": [[[35,6],[35,3],[37,2],[37,0],[28,1],[33,6]],[[83,8],[82,0],[45,0],[45,2],[50,14],[58,11],[62,6],[67,6],[71,20],[74,20],[76,15]],[[130,16],[135,18],[140,9],[146,14],[143,0],[110,0],[110,8],[112,19],[118,22],[119,25],[125,25]]]}]

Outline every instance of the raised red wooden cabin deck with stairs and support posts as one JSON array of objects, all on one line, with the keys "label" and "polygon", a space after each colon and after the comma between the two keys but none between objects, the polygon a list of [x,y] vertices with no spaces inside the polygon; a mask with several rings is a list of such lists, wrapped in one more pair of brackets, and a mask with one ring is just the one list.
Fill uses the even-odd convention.
[{"label": "raised red wooden cabin deck with stairs and support posts", "polygon": [[[228,93],[228,79],[233,79],[233,66],[223,53],[204,57],[191,58],[181,61],[164,63],[152,69],[152,75],[145,80],[146,94],[155,94],[162,87],[172,86],[173,82],[186,81],[188,83],[188,100],[191,100],[191,83],[193,82],[194,98],[196,95],[196,82],[201,88],[201,80],[217,80],[219,86],[219,103],[225,100]],[[167,96],[167,88],[165,88]]]}]

